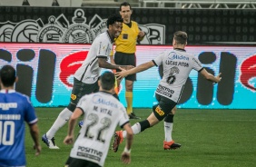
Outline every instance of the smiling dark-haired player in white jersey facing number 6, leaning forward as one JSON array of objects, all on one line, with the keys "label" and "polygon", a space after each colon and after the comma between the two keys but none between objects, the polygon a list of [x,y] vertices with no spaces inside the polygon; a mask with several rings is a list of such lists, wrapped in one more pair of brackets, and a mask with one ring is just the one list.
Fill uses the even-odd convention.
[{"label": "smiling dark-haired player in white jersey facing number 6, leaning forward", "polygon": [[[50,149],[59,149],[54,143],[55,133],[64,126],[74,112],[76,104],[84,94],[96,93],[99,91],[97,84],[102,68],[118,69],[118,64],[110,64],[107,62],[110,52],[113,48],[113,40],[121,34],[123,28],[123,18],[113,15],[107,20],[108,30],[103,34],[99,34],[84,60],[84,63],[74,74],[74,87],[70,97],[70,103],[58,115],[52,127],[42,136],[42,141]],[[130,69],[132,65],[122,65],[123,68]],[[117,94],[113,95],[118,98]]]}]

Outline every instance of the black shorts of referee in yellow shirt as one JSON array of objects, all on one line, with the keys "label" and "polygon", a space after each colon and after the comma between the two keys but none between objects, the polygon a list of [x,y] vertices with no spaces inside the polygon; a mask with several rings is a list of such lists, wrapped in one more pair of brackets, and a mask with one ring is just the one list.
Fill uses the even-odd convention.
[{"label": "black shorts of referee in yellow shirt", "polygon": [[[114,54],[114,63],[119,65],[133,65],[136,66],[136,56],[135,54],[124,54],[121,52],[116,52]],[[120,70],[116,70],[120,72]],[[126,80],[136,81],[136,74],[129,74],[125,77]]]}]

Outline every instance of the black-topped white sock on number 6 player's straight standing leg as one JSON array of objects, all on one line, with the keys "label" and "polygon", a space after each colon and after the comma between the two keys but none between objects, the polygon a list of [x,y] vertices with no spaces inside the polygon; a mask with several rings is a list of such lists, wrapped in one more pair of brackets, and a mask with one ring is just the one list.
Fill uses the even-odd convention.
[{"label": "black-topped white sock on number 6 player's straight standing leg", "polygon": [[168,114],[164,119],[164,141],[172,141],[173,114]]}]

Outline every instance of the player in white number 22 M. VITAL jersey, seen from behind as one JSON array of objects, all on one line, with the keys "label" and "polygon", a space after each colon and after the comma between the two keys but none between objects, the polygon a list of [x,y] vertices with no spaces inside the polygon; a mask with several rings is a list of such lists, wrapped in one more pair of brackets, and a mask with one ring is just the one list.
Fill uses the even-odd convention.
[{"label": "player in white number 22 M. VITAL jersey, seen from behind", "polygon": [[122,160],[124,163],[131,161],[130,152],[133,132],[123,104],[112,95],[114,82],[113,73],[103,73],[99,80],[100,92],[84,95],[77,104],[77,108],[70,118],[68,134],[64,139],[64,143],[73,143],[74,125],[82,114],[84,114],[84,125],[74,142],[74,147],[70,152],[70,158],[66,166],[103,166],[117,125],[127,132],[127,141]]}]

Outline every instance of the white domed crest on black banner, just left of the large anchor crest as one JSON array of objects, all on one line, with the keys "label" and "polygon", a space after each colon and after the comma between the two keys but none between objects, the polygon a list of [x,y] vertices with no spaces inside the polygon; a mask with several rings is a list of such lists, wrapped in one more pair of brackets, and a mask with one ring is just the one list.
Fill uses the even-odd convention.
[{"label": "white domed crest on black banner, just left of the large anchor crest", "polygon": [[40,30],[37,36],[37,42],[39,43],[60,43],[64,30],[60,25],[55,23],[56,19],[52,15],[49,17],[49,24],[44,25],[44,28]]}]

